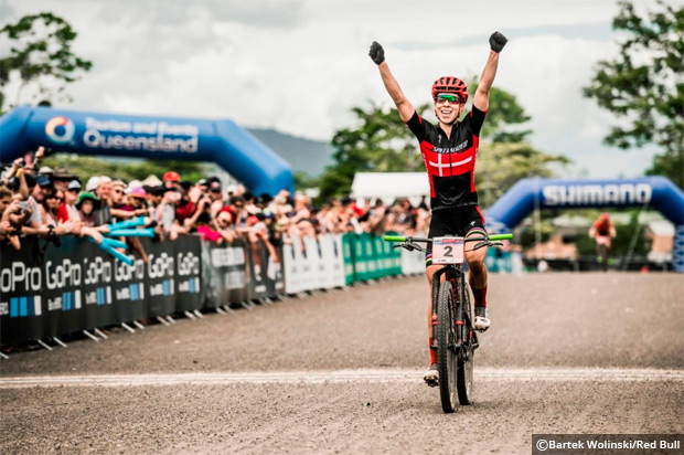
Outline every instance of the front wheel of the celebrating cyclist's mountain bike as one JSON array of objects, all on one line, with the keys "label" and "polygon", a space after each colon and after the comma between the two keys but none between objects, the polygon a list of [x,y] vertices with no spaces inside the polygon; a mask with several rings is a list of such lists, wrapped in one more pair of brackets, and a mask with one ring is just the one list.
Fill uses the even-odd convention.
[{"label": "front wheel of the celebrating cyclist's mountain bike", "polygon": [[437,341],[437,369],[439,370],[439,396],[441,409],[449,413],[456,409],[456,334],[453,318],[453,294],[451,283],[439,285],[437,295],[437,326],[435,326]]}]

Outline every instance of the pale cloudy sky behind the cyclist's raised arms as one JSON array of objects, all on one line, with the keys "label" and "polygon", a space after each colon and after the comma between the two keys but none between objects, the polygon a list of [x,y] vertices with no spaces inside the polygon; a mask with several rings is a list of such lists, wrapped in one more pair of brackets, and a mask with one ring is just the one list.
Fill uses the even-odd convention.
[{"label": "pale cloudy sky behind the cyclist's raised arms", "polygon": [[[649,4],[638,0],[638,6]],[[653,149],[602,146],[612,117],[581,96],[617,54],[613,0],[0,0],[0,22],[51,11],[78,32],[94,68],[71,108],[231,118],[330,140],[350,108],[389,106],[367,56],[376,40],[406,96],[441,75],[479,75],[489,35],[509,38],[495,85],[532,116],[532,144],[571,158],[573,177],[638,177]]]}]

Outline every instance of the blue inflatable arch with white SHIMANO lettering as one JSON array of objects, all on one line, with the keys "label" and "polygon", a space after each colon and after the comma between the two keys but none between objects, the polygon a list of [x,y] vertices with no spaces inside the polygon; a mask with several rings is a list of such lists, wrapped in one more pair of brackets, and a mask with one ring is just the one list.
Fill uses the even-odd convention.
[{"label": "blue inflatable arch with white SHIMANO lettering", "polygon": [[651,208],[675,226],[672,268],[684,272],[684,192],[664,177],[628,180],[523,179],[487,212],[487,225],[503,232],[517,225],[535,207]]}]

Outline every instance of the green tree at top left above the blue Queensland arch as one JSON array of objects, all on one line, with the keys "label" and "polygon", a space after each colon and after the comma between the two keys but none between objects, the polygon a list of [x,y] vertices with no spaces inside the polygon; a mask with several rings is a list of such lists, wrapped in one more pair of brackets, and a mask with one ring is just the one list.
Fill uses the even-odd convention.
[{"label": "green tree at top left above the blue Queensland arch", "polygon": [[93,66],[72,52],[76,35],[68,22],[50,12],[24,15],[0,29],[0,41],[10,46],[9,55],[0,59],[0,113],[8,100],[7,86],[14,78],[20,85],[10,107],[22,103],[29,86],[31,102],[66,97],[66,85]]}]

